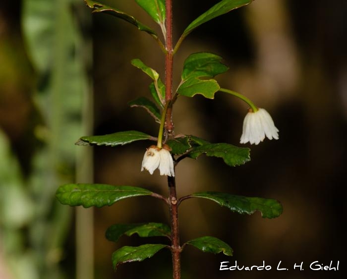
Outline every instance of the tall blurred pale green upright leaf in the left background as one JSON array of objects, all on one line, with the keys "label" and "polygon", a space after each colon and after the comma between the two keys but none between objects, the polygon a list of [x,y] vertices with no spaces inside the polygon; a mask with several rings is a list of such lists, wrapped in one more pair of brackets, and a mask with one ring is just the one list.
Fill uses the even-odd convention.
[{"label": "tall blurred pale green upright leaf in the left background", "polygon": [[[83,1],[23,0],[21,3],[26,51],[37,73],[36,92],[29,95],[34,98],[32,102],[38,111],[35,115],[40,116],[34,116],[39,120],[33,118],[31,123],[36,125],[35,136],[42,144],[34,148],[31,158],[26,189],[35,201],[35,211],[26,228],[28,237],[21,241],[22,249],[29,250],[32,267],[38,275],[31,276],[23,268],[24,277],[18,278],[60,278],[59,253],[54,253],[55,260],[46,268],[40,263],[44,255],[61,251],[71,224],[71,208],[60,205],[55,193],[57,185],[75,179],[76,164],[81,166],[76,162],[81,157],[76,155],[73,139],[88,134],[83,132],[87,125],[82,119],[84,112],[90,115],[91,111],[84,107],[91,93],[86,73],[91,61],[91,44],[86,38],[88,32],[84,37],[81,30],[90,29],[91,15],[83,8]],[[26,141],[28,148],[34,147],[32,140]],[[83,166],[86,161],[88,158],[84,156]],[[79,176],[82,173],[80,169],[77,172]]]}]

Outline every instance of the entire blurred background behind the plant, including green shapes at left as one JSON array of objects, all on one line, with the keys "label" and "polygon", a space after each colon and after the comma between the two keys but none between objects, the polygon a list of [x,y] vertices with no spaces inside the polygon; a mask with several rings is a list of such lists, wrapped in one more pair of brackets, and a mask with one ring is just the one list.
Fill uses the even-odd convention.
[{"label": "entire blurred background behind the plant, including green shapes at left", "polygon": [[[174,0],[174,41],[216,0]],[[155,26],[134,1],[109,0]],[[156,29],[159,32],[159,28]],[[191,33],[175,56],[174,87],[194,52],[225,58],[220,85],[271,113],[277,141],[250,146],[252,161],[228,167],[201,156],[176,168],[178,195],[225,191],[278,199],[284,213],[240,216],[208,200],[180,207],[181,243],[211,235],[234,256],[187,247],[182,278],[345,278],[347,156],[347,2],[255,0]],[[111,255],[123,245],[162,239],[123,237],[114,223],[169,221],[159,200],[133,198],[112,207],[81,209],[55,200],[58,185],[108,183],[167,195],[166,178],[140,172],[147,142],[124,147],[78,147],[82,135],[122,130],[157,134],[158,125],[127,102],[149,96],[149,78],[130,64],[140,58],[164,77],[164,60],[150,36],[82,0],[1,0],[0,5],[0,279],[171,278],[171,255],[161,251],[116,274]],[[215,100],[179,98],[176,134],[239,145],[247,106],[223,93]],[[94,153],[94,156],[92,155]],[[76,238],[78,239],[76,241]],[[271,271],[219,271],[229,261]],[[276,271],[282,265],[288,271]],[[339,271],[310,271],[309,264]],[[293,270],[303,262],[303,271]]]}]

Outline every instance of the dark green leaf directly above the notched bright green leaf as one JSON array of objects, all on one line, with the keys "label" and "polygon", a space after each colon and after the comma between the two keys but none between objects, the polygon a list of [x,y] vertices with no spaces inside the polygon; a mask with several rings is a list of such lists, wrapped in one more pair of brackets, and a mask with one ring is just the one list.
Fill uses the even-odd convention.
[{"label": "dark green leaf directly above the notched bright green leaf", "polygon": [[182,80],[193,77],[215,77],[226,72],[229,67],[223,64],[222,57],[213,53],[194,53],[184,61]]}]

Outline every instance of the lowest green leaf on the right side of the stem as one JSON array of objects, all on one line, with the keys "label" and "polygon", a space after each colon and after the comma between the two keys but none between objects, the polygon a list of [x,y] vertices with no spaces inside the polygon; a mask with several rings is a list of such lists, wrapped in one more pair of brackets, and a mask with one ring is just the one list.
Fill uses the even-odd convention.
[{"label": "lowest green leaf on the right side of the stem", "polygon": [[[185,244],[192,245],[203,252],[218,254],[223,252],[227,256],[232,256],[231,247],[224,241],[213,237],[213,236],[203,236],[187,241]],[[184,245],[185,245],[184,244]]]}]

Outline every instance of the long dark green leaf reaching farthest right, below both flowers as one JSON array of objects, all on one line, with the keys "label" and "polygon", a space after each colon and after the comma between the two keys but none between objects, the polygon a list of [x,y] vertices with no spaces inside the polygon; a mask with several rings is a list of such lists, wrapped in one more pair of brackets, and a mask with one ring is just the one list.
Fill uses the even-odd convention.
[{"label": "long dark green leaf reaching farthest right, below both flowers", "polygon": [[282,205],[274,199],[236,196],[221,192],[201,192],[192,194],[193,197],[212,200],[221,206],[240,214],[253,214],[260,211],[263,218],[276,218],[283,212]]}]

